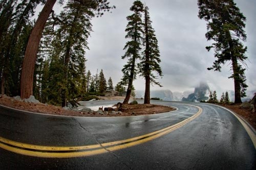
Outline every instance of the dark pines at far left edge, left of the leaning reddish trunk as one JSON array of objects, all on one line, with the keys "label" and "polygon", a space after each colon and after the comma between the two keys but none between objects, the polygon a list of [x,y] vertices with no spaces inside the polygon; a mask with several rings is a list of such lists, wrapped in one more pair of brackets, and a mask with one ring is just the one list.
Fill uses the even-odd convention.
[{"label": "dark pines at far left edge, left of the leaning reddish trunk", "polygon": [[[19,94],[19,80],[22,61],[24,58],[25,48],[28,38],[32,29],[30,17],[34,15],[35,8],[43,0],[31,1],[6,1],[2,2],[2,13],[0,14],[1,21],[5,24],[0,26],[0,41],[5,48],[2,53],[4,62],[2,67],[1,88],[2,93],[8,95]],[[5,10],[7,10],[5,12]],[[4,16],[2,15],[4,14]],[[8,29],[8,38],[4,41],[1,40],[2,28]],[[1,53],[1,52],[0,52]]]}]

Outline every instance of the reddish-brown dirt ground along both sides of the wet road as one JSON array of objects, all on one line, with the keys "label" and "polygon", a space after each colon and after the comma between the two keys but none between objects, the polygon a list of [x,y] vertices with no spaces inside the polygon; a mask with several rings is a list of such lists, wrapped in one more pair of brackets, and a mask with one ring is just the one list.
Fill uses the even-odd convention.
[{"label": "reddish-brown dirt ground along both sides of the wet road", "polygon": [[[100,97],[101,100],[123,100],[122,96],[111,96],[111,97]],[[122,110],[119,112],[79,112],[73,110],[66,110],[58,106],[47,105],[42,103],[27,103],[24,101],[18,101],[14,98],[8,96],[0,95],[0,105],[7,107],[26,110],[36,113],[45,113],[53,115],[63,115],[63,116],[85,116],[85,117],[108,117],[108,116],[131,116],[131,115],[146,115],[146,114],[156,114],[175,110],[172,107],[162,106],[162,105],[151,105],[151,104],[138,104],[138,105],[122,105]],[[228,108],[229,110],[242,116],[249,124],[256,129],[256,113],[252,113],[251,110],[241,108],[240,105],[221,105]]]}]

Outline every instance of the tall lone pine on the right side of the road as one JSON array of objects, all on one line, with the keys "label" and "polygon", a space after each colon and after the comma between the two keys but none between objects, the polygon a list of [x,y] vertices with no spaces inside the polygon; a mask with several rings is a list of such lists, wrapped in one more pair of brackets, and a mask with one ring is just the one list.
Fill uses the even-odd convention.
[{"label": "tall lone pine on the right side of the road", "polygon": [[246,40],[245,16],[233,0],[198,0],[199,18],[208,21],[205,34],[207,40],[214,40],[208,51],[214,48],[217,58],[212,67],[207,69],[221,70],[221,64],[231,61],[232,75],[234,80],[234,103],[242,103],[241,97],[246,96],[246,78],[242,67],[247,57],[242,41]]}]

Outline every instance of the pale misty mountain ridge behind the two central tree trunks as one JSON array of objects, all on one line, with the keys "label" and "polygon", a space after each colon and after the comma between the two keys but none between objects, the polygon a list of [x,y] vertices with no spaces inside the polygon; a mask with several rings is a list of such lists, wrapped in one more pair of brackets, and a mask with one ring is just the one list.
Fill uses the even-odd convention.
[{"label": "pale misty mountain ridge behind the two central tree trunks", "polygon": [[[135,91],[136,98],[144,98],[143,90]],[[150,93],[151,98],[160,98],[163,101],[173,101],[173,92],[170,90],[152,90]]]}]

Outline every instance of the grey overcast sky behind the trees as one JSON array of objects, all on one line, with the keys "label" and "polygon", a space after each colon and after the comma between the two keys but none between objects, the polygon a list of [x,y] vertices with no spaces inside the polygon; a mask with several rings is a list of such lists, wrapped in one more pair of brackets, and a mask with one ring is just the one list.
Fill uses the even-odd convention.
[{"label": "grey overcast sky behind the trees", "polygon": [[[112,13],[104,13],[102,17],[93,18],[93,31],[89,38],[87,51],[87,71],[96,74],[97,68],[103,69],[108,81],[112,78],[114,85],[122,77],[121,69],[125,60],[121,59],[125,51],[123,47],[129,39],[125,39],[124,31],[127,25],[126,17],[132,14],[130,7],[132,0],[109,0],[116,9]],[[233,90],[233,80],[230,63],[222,67],[222,72],[206,68],[214,62],[214,52],[207,52],[205,46],[211,44],[206,41],[206,21],[198,18],[198,6],[196,0],[144,0],[149,8],[153,28],[158,39],[160,63],[163,78],[158,79],[163,87],[154,86],[152,89],[169,89],[174,91],[194,90],[200,81],[206,81],[211,90],[221,93]],[[241,12],[246,16],[248,47],[246,62],[246,78],[248,90],[256,90],[256,36],[255,36],[255,0],[235,0]],[[144,79],[134,82],[135,89],[144,89]]]}]

